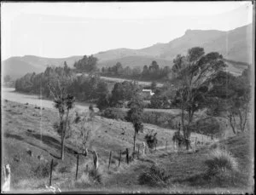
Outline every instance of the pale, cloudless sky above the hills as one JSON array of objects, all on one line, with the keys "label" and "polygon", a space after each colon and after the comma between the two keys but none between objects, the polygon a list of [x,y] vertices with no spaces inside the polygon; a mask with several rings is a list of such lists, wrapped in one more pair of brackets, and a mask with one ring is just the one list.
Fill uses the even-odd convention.
[{"label": "pale, cloudless sky above the hills", "polygon": [[2,59],[143,49],[191,30],[252,23],[251,2],[1,3]]}]

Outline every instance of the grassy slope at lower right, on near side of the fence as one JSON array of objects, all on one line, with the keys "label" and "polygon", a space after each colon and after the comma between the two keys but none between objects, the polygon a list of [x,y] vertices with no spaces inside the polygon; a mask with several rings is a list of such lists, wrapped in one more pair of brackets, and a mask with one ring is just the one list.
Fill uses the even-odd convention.
[{"label": "grassy slope at lower right, on near side of the fence", "polygon": [[226,146],[238,160],[239,173],[234,183],[226,181],[221,186],[216,181],[206,181],[207,165],[204,161],[208,158],[211,146],[201,146],[199,152],[172,152],[161,150],[143,158],[143,162],[130,167],[126,172],[114,175],[108,185],[115,187],[131,186],[131,190],[139,186],[137,177],[147,171],[153,163],[165,167],[171,174],[171,185],[163,188],[148,186],[148,190],[160,192],[253,192],[253,147],[252,136],[249,134],[230,137],[218,144]]}]

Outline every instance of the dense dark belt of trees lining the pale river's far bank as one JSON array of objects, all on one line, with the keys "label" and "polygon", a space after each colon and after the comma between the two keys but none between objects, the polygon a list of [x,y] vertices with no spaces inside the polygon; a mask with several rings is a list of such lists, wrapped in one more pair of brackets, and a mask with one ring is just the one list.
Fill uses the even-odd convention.
[{"label": "dense dark belt of trees lining the pale river's far bank", "polygon": [[49,98],[48,83],[57,88],[58,83],[65,86],[67,93],[75,96],[77,100],[97,100],[102,94],[108,92],[108,84],[99,75],[91,73],[89,77],[77,76],[67,64],[61,66],[49,66],[42,73],[27,73],[17,79],[15,89],[20,92],[35,93]]}]

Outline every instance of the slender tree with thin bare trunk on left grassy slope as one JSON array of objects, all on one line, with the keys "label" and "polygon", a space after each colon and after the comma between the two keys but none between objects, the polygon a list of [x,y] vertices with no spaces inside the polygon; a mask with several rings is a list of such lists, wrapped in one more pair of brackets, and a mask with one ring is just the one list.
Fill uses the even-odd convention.
[{"label": "slender tree with thin bare trunk on left grassy slope", "polygon": [[58,88],[55,88],[49,83],[49,90],[51,95],[54,97],[55,108],[58,109],[60,117],[60,129],[61,129],[61,160],[64,160],[64,147],[65,138],[67,136],[67,125],[69,112],[73,108],[74,97],[73,95],[67,94],[67,89],[61,87],[61,83],[58,83]]}]

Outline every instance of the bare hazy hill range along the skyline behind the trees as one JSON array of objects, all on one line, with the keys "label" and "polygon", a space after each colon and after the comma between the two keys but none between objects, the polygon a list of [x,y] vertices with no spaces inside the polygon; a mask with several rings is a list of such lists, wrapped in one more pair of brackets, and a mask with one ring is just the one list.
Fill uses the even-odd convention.
[{"label": "bare hazy hill range along the skyline behind the trees", "polygon": [[[160,66],[172,66],[172,60],[177,54],[186,54],[188,49],[201,46],[206,53],[217,51],[229,60],[230,72],[240,74],[246,67],[244,64],[252,63],[252,24],[241,26],[229,32],[216,30],[187,30],[182,37],[169,43],[157,43],[144,49],[111,49],[94,54],[98,58],[98,66],[113,66],[118,61],[123,66],[149,65],[156,60]],[[15,77],[26,72],[43,72],[46,66],[62,66],[64,61],[73,67],[76,60],[83,56],[67,58],[44,58],[33,55],[11,57],[4,60],[2,67],[4,74]]]}]

